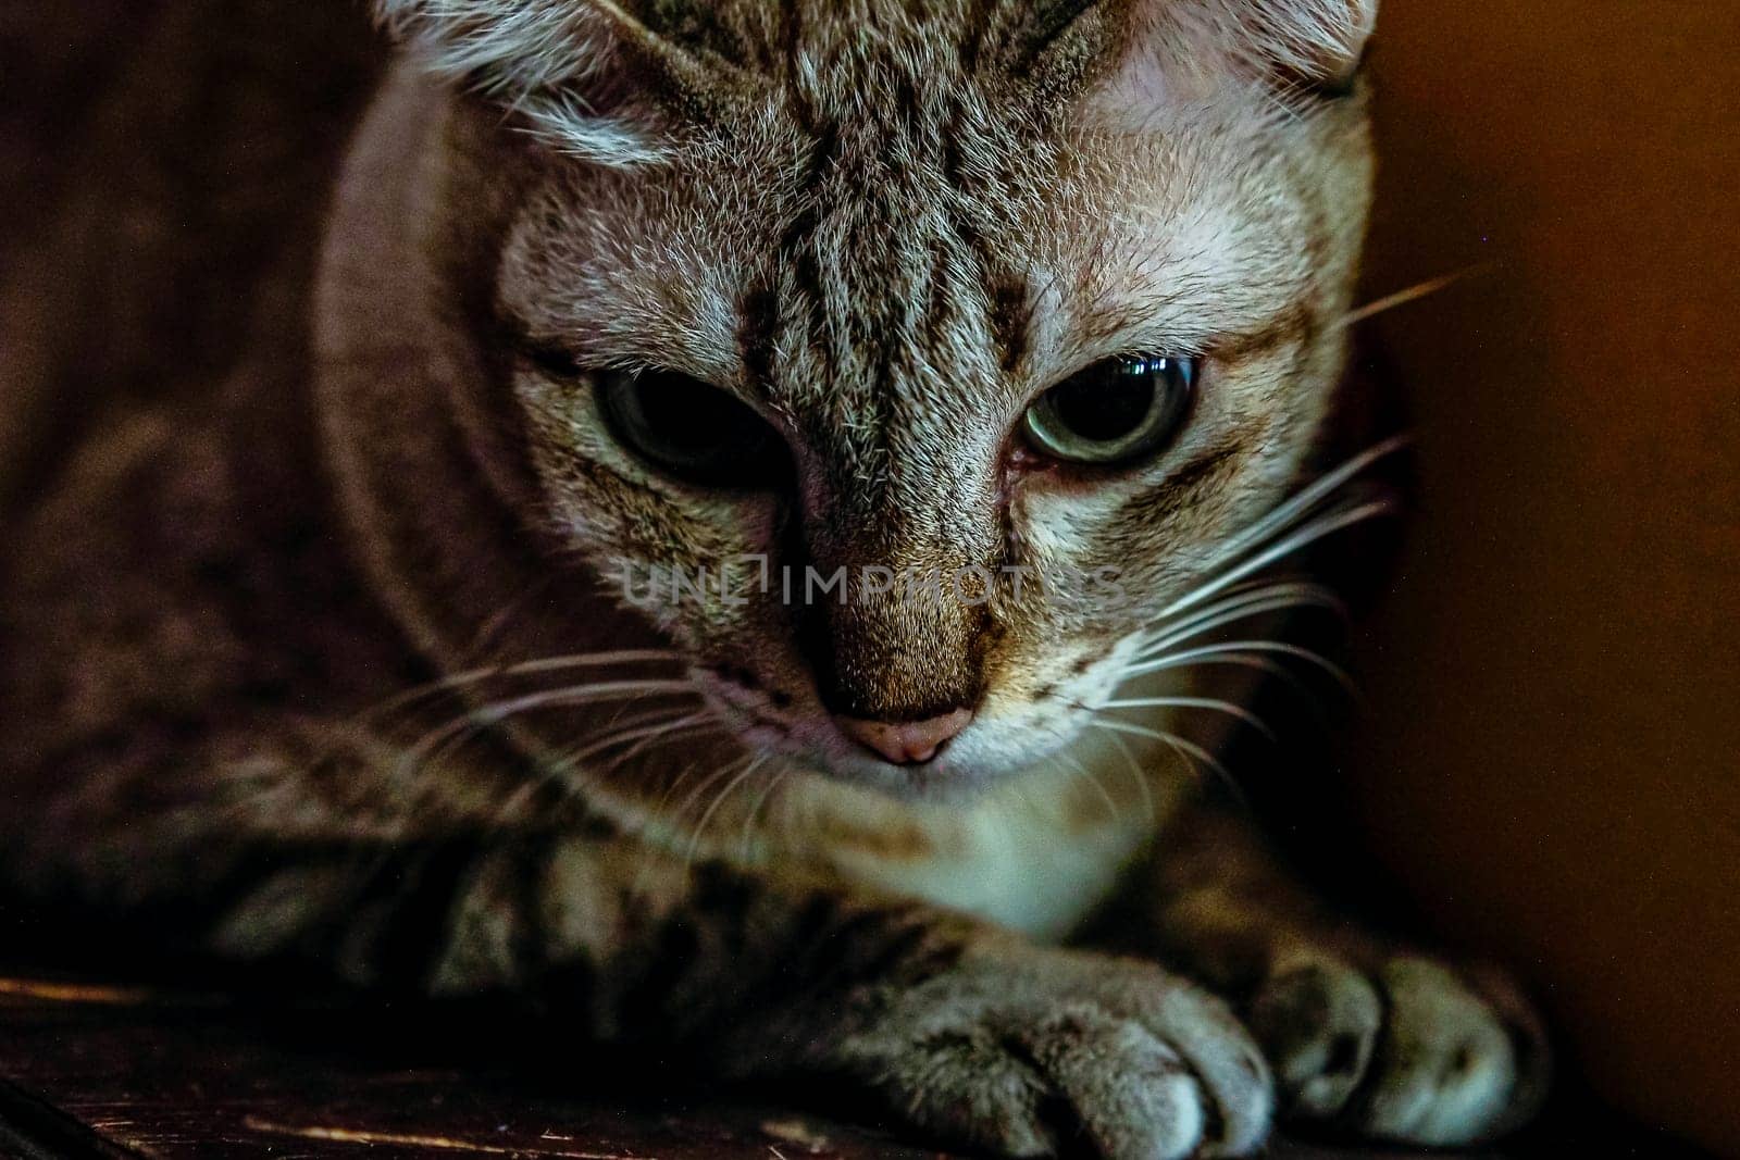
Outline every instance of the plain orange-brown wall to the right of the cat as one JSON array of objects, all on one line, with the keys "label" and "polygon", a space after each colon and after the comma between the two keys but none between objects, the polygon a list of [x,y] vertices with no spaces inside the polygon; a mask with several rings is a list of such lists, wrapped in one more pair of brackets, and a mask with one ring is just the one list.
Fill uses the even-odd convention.
[{"label": "plain orange-brown wall to the right of the cat", "polygon": [[1385,0],[1423,504],[1364,826],[1615,1101],[1740,1153],[1740,3]]}]

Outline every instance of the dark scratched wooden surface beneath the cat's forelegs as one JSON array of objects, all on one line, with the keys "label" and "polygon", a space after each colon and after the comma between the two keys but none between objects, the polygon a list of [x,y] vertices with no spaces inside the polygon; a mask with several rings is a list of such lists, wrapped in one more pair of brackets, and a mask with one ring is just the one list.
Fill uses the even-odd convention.
[{"label": "dark scratched wooden surface beneath the cat's forelegs", "polygon": [[[1268,1155],[1399,1153],[1281,1143]],[[1578,1115],[1503,1155],[1681,1153]],[[315,1000],[251,1007],[40,976],[0,977],[0,1157],[947,1160],[922,1141],[785,1106],[781,1092],[701,1090],[548,1023]]]}]

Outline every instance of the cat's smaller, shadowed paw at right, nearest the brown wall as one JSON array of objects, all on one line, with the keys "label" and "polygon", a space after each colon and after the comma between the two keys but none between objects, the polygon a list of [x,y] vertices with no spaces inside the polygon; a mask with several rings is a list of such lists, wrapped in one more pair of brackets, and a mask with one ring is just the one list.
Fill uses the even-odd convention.
[{"label": "cat's smaller, shadowed paw at right, nearest the brown wall", "polygon": [[1286,958],[1248,1010],[1289,1118],[1371,1139],[1474,1144],[1524,1123],[1547,1090],[1540,1019],[1496,974],[1394,957],[1371,972]]}]

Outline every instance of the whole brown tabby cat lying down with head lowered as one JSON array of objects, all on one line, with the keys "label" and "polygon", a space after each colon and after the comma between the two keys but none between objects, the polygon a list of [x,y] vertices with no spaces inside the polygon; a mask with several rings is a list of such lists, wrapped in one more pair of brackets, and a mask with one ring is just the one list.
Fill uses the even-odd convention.
[{"label": "whole brown tabby cat lying down with head lowered", "polygon": [[1009,1157],[1535,1111],[1192,772],[1371,508],[1373,0],[374,17],[167,5],[12,263],[12,897]]}]

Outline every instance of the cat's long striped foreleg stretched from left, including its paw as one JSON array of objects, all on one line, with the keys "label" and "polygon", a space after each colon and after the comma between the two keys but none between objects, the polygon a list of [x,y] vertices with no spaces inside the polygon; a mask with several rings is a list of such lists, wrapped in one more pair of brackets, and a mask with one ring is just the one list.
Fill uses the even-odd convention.
[{"label": "cat's long striped foreleg stretched from left, including its paw", "polygon": [[[176,918],[160,939],[230,960],[397,995],[505,997],[564,1035],[804,1080],[997,1155],[1235,1157],[1268,1132],[1256,1043],[1221,1000],[1152,962],[1035,946],[924,903],[691,866],[625,837],[461,826],[392,838],[315,791],[357,795],[379,770],[282,763],[275,777],[273,765],[245,776],[270,795],[258,824],[219,807],[244,774],[205,770],[186,779],[202,800],[115,807],[113,828],[37,847],[33,875],[136,917],[162,906]],[[57,833],[94,823],[80,809],[57,810]]]}]

